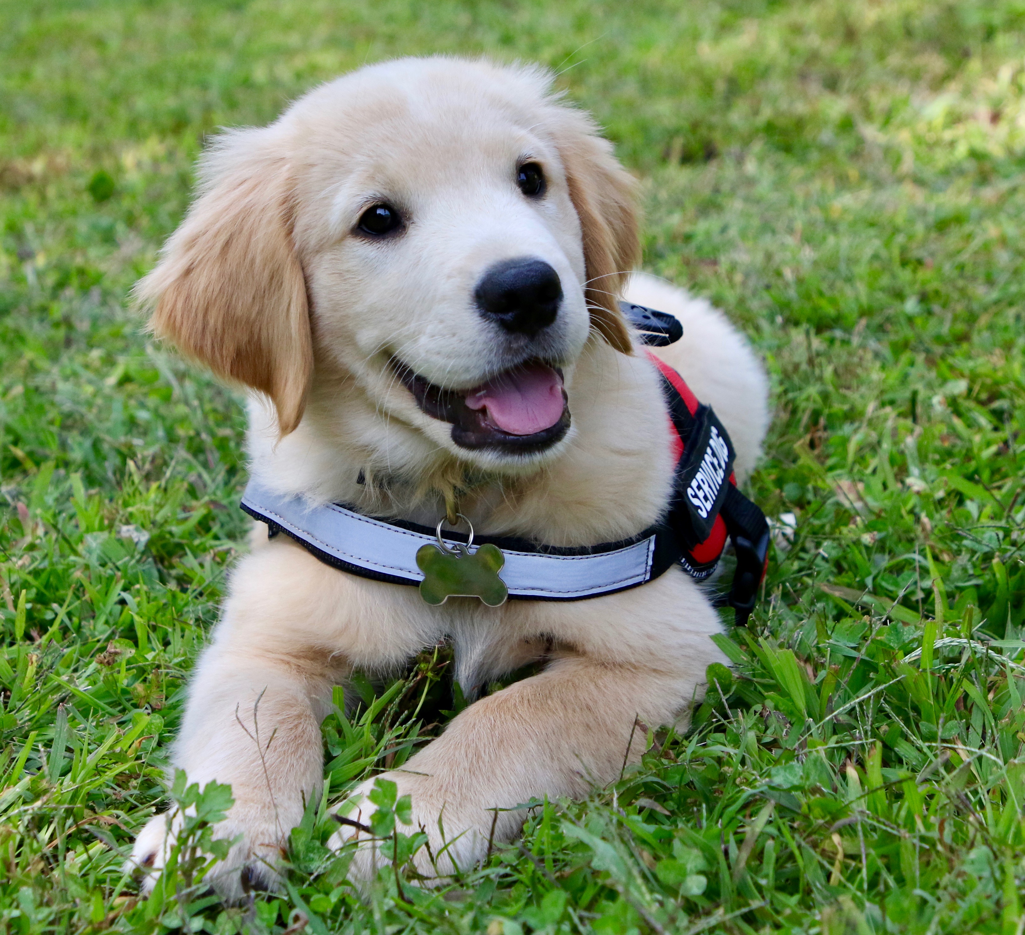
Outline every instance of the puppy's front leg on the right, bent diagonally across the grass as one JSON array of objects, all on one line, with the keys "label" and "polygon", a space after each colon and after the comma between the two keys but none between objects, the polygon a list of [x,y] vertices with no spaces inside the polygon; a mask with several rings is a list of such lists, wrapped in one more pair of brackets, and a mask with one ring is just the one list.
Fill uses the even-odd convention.
[{"label": "puppy's front leg on the right, bent diagonally across the grass", "polygon": [[[717,657],[714,650],[709,656]],[[614,781],[624,763],[640,756],[646,726],[672,722],[694,691],[693,679],[672,672],[567,655],[473,704],[404,769],[384,776],[400,796],[412,798],[413,827],[405,830],[422,828],[429,839],[429,851],[415,858],[417,869],[430,877],[471,866],[487,853],[493,821],[496,841],[519,832],[524,812],[515,807],[521,803],[545,795],[579,798]],[[634,728],[636,720],[646,726]],[[372,785],[356,790],[350,818],[368,822],[373,806],[358,797]],[[331,845],[360,836],[343,826]],[[368,844],[357,851],[350,875],[372,878],[380,863]]]}]

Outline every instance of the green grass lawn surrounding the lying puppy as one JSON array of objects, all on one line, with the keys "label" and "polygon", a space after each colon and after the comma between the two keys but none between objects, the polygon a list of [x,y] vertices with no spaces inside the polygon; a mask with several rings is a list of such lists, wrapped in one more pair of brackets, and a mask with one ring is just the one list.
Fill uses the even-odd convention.
[{"label": "green grass lawn surrounding the lying puppy", "polygon": [[[0,0],[0,931],[1022,932],[1025,4]],[[562,70],[644,178],[646,267],[756,342],[765,600],[691,730],[448,888],[389,868],[361,901],[315,803],[287,893],[223,909],[186,854],[139,901],[243,416],[127,291],[205,134],[433,51]],[[439,730],[446,662],[355,686],[330,801]]]}]

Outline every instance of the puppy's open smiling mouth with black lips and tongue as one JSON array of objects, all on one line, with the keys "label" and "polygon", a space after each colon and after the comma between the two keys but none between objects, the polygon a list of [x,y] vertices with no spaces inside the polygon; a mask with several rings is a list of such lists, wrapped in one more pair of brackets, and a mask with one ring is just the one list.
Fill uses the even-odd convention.
[{"label": "puppy's open smiling mouth with black lips and tongue", "polygon": [[469,390],[446,390],[400,361],[393,359],[393,365],[423,412],[451,422],[452,441],[461,448],[530,454],[569,431],[562,371],[541,361],[518,364]]}]

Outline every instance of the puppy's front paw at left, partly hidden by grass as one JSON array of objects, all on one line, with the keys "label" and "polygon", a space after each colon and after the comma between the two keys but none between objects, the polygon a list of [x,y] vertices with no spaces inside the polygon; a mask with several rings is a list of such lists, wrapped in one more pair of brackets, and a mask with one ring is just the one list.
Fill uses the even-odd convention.
[{"label": "puppy's front paw at left, partly hidden by grass", "polygon": [[[156,885],[181,832],[180,810],[164,812],[151,818],[139,831],[128,863],[141,870],[140,892],[149,894]],[[204,882],[225,902],[239,902],[252,890],[277,890],[281,878],[278,862],[284,854],[284,835],[273,816],[262,809],[232,809],[214,826],[214,838],[235,841],[222,860],[216,861]],[[180,860],[179,854],[179,860]]]}]

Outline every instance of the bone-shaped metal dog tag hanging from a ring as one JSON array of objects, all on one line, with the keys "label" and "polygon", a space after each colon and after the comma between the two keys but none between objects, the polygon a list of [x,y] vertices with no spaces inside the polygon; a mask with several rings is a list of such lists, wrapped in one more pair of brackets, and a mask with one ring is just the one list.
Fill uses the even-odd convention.
[{"label": "bone-shaped metal dog tag hanging from a ring", "polygon": [[[462,514],[458,514],[466,520]],[[421,545],[416,553],[416,564],[423,572],[420,597],[427,604],[444,604],[449,598],[480,598],[488,607],[505,603],[508,588],[498,577],[505,564],[505,556],[497,545],[486,542],[470,552],[474,544],[474,527],[469,527],[469,541],[457,542],[449,547],[442,539],[442,523],[436,530],[437,545]],[[469,520],[466,520],[469,524]]]}]

